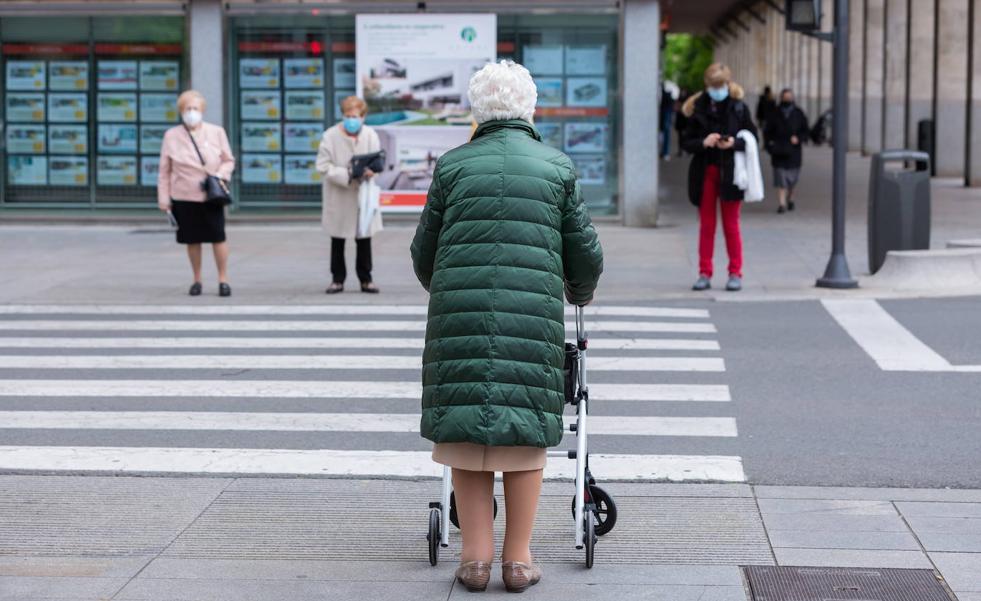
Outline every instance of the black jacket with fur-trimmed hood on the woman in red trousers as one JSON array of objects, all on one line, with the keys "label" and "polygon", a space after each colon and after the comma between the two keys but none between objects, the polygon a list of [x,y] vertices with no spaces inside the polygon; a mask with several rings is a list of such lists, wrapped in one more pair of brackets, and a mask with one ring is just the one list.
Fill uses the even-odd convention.
[{"label": "black jacket with fur-trimmed hood on the woman in red trousers", "polygon": [[743,191],[732,183],[732,176],[736,152],[745,150],[745,142],[736,138],[735,146],[729,150],[702,146],[705,136],[710,133],[735,136],[742,129],[759,139],[752,115],[742,97],[742,88],[731,83],[729,97],[722,102],[713,103],[708,94],[704,93],[696,94],[685,102],[682,112],[688,115],[688,125],[681,137],[681,147],[693,155],[688,166],[688,200],[696,207],[702,199],[702,182],[705,179],[705,167],[709,164],[721,167],[722,186],[719,195],[722,200],[743,199]]}]

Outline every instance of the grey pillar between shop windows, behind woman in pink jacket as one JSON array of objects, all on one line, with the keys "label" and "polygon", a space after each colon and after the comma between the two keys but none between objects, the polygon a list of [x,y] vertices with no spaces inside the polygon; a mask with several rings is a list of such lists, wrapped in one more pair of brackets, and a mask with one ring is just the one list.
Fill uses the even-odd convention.
[{"label": "grey pillar between shop windows, behind woman in pink jacket", "polygon": [[206,119],[225,123],[225,37],[221,0],[192,0],[188,6],[191,87],[208,102]]}]

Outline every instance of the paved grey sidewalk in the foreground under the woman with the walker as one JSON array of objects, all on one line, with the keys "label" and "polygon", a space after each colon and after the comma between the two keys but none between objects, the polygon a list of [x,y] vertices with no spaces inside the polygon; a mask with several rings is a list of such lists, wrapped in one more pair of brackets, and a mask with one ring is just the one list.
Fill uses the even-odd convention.
[{"label": "paved grey sidewalk in the foreground under the woman with the walker", "polygon": [[[981,490],[609,483],[583,567],[547,483],[535,599],[744,601],[742,565],[937,570],[981,601]],[[0,476],[0,601],[469,599],[459,535],[426,560],[436,481]],[[498,498],[502,499],[500,491]],[[503,526],[498,516],[498,544]],[[504,598],[499,571],[481,598]],[[527,595],[526,595],[527,596]]]}]

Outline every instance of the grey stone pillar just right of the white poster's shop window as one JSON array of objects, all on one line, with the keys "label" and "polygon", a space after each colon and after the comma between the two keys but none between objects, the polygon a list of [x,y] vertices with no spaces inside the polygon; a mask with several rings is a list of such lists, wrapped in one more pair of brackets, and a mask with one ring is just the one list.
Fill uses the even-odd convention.
[{"label": "grey stone pillar just right of the white poster's shop window", "polygon": [[658,0],[623,4],[623,223],[652,226],[657,217],[657,127],[661,11]]}]

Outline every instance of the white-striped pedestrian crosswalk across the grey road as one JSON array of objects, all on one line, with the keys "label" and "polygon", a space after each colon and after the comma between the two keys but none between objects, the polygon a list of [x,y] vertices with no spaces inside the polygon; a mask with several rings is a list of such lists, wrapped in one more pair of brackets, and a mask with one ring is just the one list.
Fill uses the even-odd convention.
[{"label": "white-striped pedestrian crosswalk across the grey road", "polygon": [[[0,472],[437,476],[418,435],[425,318],[422,305],[0,306]],[[587,326],[598,477],[745,479],[707,310],[589,307]],[[546,476],[574,467],[551,459]]]}]

